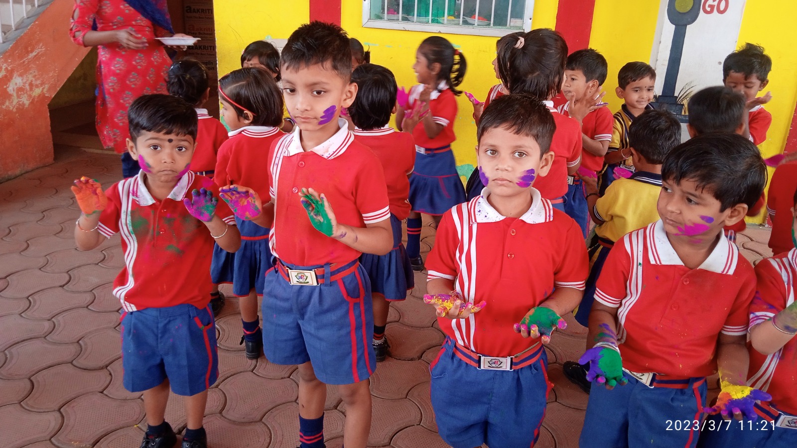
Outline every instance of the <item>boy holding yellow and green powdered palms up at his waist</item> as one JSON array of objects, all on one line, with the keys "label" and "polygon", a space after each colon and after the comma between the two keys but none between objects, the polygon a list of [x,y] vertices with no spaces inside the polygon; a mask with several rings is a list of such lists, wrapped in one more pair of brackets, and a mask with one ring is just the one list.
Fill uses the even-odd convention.
[{"label": "boy holding yellow and green powdered palms up at his waist", "polygon": [[443,215],[426,261],[428,293],[453,300],[438,309],[446,342],[430,373],[438,431],[454,448],[533,446],[540,435],[551,388],[542,344],[587,279],[579,226],[532,187],[551,169],[555,126],[533,96],[485,108],[477,158],[487,186]]}]

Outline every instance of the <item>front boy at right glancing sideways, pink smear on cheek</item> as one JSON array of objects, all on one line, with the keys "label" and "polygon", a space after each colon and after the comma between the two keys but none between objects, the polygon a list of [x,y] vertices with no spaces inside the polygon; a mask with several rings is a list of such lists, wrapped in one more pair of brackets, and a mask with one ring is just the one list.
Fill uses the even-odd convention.
[{"label": "front boy at right glancing sideways, pink smear on cheek", "polygon": [[717,370],[720,396],[706,412],[750,418],[767,397],[745,386],[756,275],[722,234],[766,181],[758,149],[736,134],[698,136],[667,155],[661,219],[614,244],[598,279],[594,346],[579,360],[591,361],[593,381],[579,446],[695,446],[705,377]]}]

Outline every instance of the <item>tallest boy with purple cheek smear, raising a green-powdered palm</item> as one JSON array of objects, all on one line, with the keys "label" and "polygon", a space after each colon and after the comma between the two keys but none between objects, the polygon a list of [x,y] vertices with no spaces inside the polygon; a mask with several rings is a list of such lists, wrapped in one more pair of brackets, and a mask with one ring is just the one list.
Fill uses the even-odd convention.
[{"label": "tallest boy with purple cheek smear, raising a green-powdered palm", "polygon": [[[357,94],[344,30],[300,26],[281,64],[296,129],[273,144],[271,202],[253,218],[269,226],[273,216],[269,242],[277,257],[265,275],[263,352],[274,364],[299,365],[301,448],[324,446],[326,384],[338,384],[346,404],[344,444],[364,447],[376,360],[371,285],[358,258],[393,248],[387,183],[379,159],[340,118]],[[239,194],[260,208],[249,189],[238,187]]]}]

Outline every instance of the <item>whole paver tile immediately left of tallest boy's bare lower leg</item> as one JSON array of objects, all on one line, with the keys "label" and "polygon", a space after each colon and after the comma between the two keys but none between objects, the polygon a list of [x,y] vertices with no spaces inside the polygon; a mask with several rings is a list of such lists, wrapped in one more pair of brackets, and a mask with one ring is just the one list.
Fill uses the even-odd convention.
[{"label": "whole paver tile immediately left of tallest boy's bare lower leg", "polygon": [[266,412],[296,400],[299,393],[290,379],[268,379],[250,371],[226,379],[219,389],[227,396],[222,415],[234,422],[259,422]]}]

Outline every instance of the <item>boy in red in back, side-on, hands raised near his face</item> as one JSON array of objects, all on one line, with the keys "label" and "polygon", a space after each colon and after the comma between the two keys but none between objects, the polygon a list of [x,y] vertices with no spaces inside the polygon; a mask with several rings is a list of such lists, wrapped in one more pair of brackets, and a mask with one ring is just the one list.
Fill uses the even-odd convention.
[{"label": "boy in red in back, side-on, hands raised near his face", "polygon": [[607,62],[594,49],[579,49],[567,57],[564,68],[562,92],[567,103],[559,106],[559,112],[570,116],[581,124],[581,167],[572,175],[567,187],[564,211],[579,223],[584,238],[589,230],[587,193],[582,176],[595,177],[603,168],[603,156],[611,141],[612,116],[602,103],[601,86],[606,81]]}]

